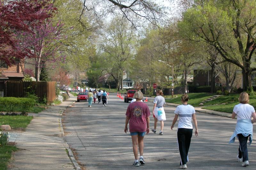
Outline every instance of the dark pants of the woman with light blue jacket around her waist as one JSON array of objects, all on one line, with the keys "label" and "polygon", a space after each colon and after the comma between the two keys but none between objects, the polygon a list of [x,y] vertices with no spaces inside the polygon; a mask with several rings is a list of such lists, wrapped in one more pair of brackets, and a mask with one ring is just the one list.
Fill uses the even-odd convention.
[{"label": "dark pants of the woman with light blue jacket around her waist", "polygon": [[244,137],[244,135],[241,133],[237,134],[237,137],[239,140],[238,157],[239,158],[243,157],[243,161],[248,160],[247,140],[249,136]]}]

